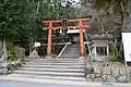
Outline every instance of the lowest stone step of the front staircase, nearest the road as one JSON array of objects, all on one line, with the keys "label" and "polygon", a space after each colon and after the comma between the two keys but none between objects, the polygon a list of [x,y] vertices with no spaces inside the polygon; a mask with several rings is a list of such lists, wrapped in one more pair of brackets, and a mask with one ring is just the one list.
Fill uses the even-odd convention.
[{"label": "lowest stone step of the front staircase, nearest the road", "polygon": [[10,77],[24,77],[24,78],[38,78],[38,79],[58,79],[58,80],[78,80],[84,82],[84,77],[69,77],[69,76],[41,76],[41,75],[22,75],[22,74],[12,74]]}]

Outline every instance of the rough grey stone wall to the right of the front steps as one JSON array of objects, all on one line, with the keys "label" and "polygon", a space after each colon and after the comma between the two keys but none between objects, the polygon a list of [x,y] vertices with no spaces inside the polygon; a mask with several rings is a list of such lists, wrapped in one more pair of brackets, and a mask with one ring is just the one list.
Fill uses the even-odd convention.
[{"label": "rough grey stone wall to the right of the front steps", "polygon": [[118,62],[87,62],[85,73],[87,82],[131,83],[131,67]]}]

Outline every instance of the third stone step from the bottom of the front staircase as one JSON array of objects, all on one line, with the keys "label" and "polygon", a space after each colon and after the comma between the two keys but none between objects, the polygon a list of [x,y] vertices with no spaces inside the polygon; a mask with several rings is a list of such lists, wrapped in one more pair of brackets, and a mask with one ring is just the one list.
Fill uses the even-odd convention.
[{"label": "third stone step from the bottom of the front staircase", "polygon": [[72,72],[84,73],[84,69],[36,69],[36,67],[19,67],[21,71],[39,71],[39,72]]}]

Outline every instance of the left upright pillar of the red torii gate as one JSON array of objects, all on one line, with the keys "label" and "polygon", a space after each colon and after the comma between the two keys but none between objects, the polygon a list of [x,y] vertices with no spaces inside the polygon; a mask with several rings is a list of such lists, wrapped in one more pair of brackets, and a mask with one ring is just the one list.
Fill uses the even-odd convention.
[{"label": "left upright pillar of the red torii gate", "polygon": [[47,45],[47,54],[50,57],[51,53],[51,40],[52,40],[52,22],[49,22],[48,27],[48,45]]}]

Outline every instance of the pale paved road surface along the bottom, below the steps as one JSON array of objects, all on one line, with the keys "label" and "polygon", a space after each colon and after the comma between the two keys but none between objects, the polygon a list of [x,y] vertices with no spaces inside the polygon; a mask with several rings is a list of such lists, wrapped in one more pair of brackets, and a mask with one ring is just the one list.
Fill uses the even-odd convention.
[{"label": "pale paved road surface along the bottom, below the steps", "polygon": [[131,84],[102,84],[86,83],[86,85],[51,84],[51,83],[26,83],[0,80],[0,87],[131,87]]}]

